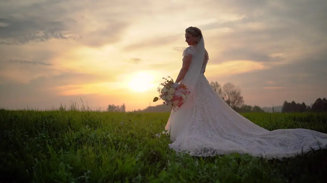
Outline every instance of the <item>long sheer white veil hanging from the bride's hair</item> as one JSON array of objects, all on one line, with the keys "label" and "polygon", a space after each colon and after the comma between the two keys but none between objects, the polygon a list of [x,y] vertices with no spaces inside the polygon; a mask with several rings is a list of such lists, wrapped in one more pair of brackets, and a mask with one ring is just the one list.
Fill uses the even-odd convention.
[{"label": "long sheer white veil hanging from the bride's hair", "polygon": [[[175,135],[183,133],[182,130],[187,129],[185,128],[185,125],[188,124],[192,116],[192,98],[198,79],[200,77],[201,67],[205,54],[203,36],[194,48],[196,51],[192,56],[190,67],[187,73],[185,74],[185,77],[181,80],[181,83],[187,87],[188,91],[190,91],[190,94],[184,104],[178,110],[171,111],[167,125],[165,126],[165,130],[168,130],[167,133],[172,131],[174,132],[172,134]],[[174,141],[175,138],[175,136],[171,136],[171,140]]]}]

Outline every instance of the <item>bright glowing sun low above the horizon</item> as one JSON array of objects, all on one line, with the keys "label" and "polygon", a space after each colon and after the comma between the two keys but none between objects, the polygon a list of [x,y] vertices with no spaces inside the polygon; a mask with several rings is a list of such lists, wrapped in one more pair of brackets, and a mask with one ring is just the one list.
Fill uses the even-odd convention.
[{"label": "bright glowing sun low above the horizon", "polygon": [[136,92],[148,91],[154,87],[153,75],[149,72],[139,72],[132,75],[129,81],[129,88]]}]

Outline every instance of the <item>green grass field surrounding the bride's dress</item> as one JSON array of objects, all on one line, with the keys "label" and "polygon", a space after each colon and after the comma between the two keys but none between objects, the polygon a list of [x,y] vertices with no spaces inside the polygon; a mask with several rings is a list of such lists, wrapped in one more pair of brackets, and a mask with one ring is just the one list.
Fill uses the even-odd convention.
[{"label": "green grass field surrounding the bride's dress", "polygon": [[[327,133],[327,114],[242,114],[268,129]],[[284,161],[178,154],[168,113],[0,110],[0,182],[325,182],[327,151]]]}]

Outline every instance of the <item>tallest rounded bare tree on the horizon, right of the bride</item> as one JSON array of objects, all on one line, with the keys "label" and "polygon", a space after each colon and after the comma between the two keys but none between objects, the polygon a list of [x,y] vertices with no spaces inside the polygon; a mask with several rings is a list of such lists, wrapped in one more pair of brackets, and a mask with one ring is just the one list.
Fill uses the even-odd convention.
[{"label": "tallest rounded bare tree on the horizon, right of the bride", "polygon": [[222,95],[225,102],[232,108],[242,106],[244,103],[243,97],[241,96],[241,89],[236,87],[233,83],[225,83],[222,88]]}]

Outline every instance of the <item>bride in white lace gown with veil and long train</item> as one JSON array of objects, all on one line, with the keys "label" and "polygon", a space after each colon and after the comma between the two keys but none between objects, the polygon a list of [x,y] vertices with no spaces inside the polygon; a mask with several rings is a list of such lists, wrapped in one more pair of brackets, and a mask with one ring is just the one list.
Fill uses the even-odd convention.
[{"label": "bride in white lace gown with veil and long train", "polygon": [[209,56],[201,30],[188,27],[185,38],[189,47],[176,82],[191,93],[178,110],[171,111],[165,126],[163,133],[170,133],[173,141],[170,148],[193,156],[237,152],[281,159],[326,146],[327,134],[307,129],[269,131],[235,112],[204,76]]}]

